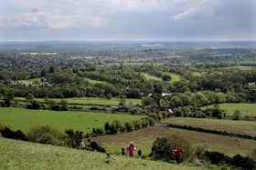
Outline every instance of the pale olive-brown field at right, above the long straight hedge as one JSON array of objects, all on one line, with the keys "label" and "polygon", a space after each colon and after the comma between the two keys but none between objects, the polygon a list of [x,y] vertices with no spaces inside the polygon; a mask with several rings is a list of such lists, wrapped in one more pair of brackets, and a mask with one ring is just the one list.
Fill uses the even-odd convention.
[{"label": "pale olive-brown field at right, above the long straight hedge", "polygon": [[196,119],[196,118],[169,118],[165,123],[175,125],[190,125],[193,127],[201,127],[206,129],[221,130],[238,134],[256,136],[256,122],[254,121],[234,121],[219,119]]}]

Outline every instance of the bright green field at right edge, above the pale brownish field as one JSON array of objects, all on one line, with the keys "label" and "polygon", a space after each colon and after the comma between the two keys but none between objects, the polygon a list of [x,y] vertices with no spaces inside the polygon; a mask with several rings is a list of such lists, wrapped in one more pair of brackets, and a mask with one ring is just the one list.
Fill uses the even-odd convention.
[{"label": "bright green field at right edge, above the pale brownish field", "polygon": [[[233,115],[235,110],[240,110],[242,116],[256,116],[256,104],[219,104],[219,107],[220,109],[227,110],[228,115]],[[201,108],[213,108],[213,105],[208,105]]]}]

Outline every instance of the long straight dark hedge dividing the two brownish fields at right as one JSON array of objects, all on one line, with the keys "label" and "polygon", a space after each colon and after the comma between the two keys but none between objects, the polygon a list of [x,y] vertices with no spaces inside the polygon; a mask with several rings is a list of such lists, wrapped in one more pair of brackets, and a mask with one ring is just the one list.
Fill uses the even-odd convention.
[{"label": "long straight dark hedge dividing the two brownish fields at right", "polygon": [[197,131],[197,132],[204,132],[204,133],[208,133],[208,134],[226,135],[229,137],[239,137],[239,138],[243,138],[243,139],[256,140],[256,136],[252,136],[252,135],[237,134],[237,133],[232,133],[232,132],[227,132],[227,131],[219,131],[219,130],[201,128],[201,127],[193,127],[193,126],[189,126],[189,125],[168,124],[167,126],[180,128],[180,129],[186,129],[186,130],[192,130],[192,131]]}]

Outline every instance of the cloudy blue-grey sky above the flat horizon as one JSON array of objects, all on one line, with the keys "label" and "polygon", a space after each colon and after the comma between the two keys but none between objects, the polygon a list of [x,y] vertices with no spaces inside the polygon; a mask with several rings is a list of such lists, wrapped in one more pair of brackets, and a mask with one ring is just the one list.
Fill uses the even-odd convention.
[{"label": "cloudy blue-grey sky above the flat horizon", "polygon": [[0,41],[256,40],[256,0],[0,0]]}]

